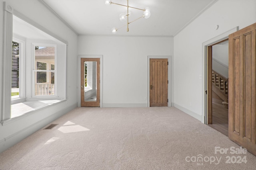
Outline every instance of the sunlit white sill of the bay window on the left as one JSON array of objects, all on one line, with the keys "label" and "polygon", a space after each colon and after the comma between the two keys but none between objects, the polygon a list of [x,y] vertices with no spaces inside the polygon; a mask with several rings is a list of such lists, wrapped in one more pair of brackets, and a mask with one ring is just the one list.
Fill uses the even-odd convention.
[{"label": "sunlit white sill of the bay window on the left", "polygon": [[44,109],[46,107],[54,106],[56,104],[65,102],[67,99],[63,100],[36,100],[36,101],[25,101],[16,104],[12,104],[11,118],[1,121],[2,125],[6,125],[22,117],[33,114],[35,111]]}]

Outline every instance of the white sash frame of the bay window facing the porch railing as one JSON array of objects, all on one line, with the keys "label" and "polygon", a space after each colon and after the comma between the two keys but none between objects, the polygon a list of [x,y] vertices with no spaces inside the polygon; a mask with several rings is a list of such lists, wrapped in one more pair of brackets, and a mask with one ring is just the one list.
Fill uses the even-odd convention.
[{"label": "white sash frame of the bay window facing the porch railing", "polygon": [[[54,70],[40,70],[38,71],[36,69],[36,57],[35,57],[35,47],[40,46],[40,47],[54,47]],[[56,98],[58,97],[58,86],[57,86],[57,45],[56,44],[48,44],[48,43],[32,43],[32,57],[33,57],[33,62],[32,62],[32,92],[31,96],[32,98]],[[36,72],[54,72],[54,95],[35,95],[35,73]]]}]

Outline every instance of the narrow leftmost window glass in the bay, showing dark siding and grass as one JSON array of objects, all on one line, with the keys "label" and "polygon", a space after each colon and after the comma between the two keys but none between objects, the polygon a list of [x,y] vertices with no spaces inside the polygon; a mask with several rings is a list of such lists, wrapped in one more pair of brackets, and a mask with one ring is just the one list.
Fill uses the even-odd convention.
[{"label": "narrow leftmost window glass in the bay, showing dark siding and grass", "polygon": [[20,97],[20,43],[12,41],[12,98]]}]

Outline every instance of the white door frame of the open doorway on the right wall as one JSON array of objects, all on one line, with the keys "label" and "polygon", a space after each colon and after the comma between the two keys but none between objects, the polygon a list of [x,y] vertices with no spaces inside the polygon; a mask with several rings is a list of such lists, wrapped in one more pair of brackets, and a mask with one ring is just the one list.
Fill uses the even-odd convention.
[{"label": "white door frame of the open doorway on the right wall", "polygon": [[202,44],[202,120],[201,122],[204,124],[208,124],[208,100],[207,100],[207,94],[206,94],[206,90],[208,91],[208,47],[212,46],[214,44],[218,44],[221,41],[228,39],[228,35],[230,35],[231,33],[234,33],[238,31],[238,26],[234,27],[233,29],[230,29],[229,31],[226,31],[225,33],[222,33],[212,39],[209,39],[208,41],[205,41]]}]

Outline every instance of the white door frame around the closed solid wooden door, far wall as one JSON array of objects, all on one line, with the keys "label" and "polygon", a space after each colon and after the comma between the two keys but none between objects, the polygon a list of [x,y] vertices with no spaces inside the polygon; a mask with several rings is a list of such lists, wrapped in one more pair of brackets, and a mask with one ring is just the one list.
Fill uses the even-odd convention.
[{"label": "white door frame around the closed solid wooden door, far wall", "polygon": [[172,65],[172,61],[171,61],[171,56],[170,55],[157,55],[157,56],[153,56],[153,55],[150,55],[148,56],[148,83],[147,83],[147,97],[145,100],[147,100],[147,107],[150,107],[150,59],[168,59],[168,107],[170,106],[174,106],[174,104],[172,104],[172,94],[174,94],[172,91],[171,91],[171,84],[173,83],[173,80],[171,79],[172,76],[172,71],[171,71],[171,65]]}]

